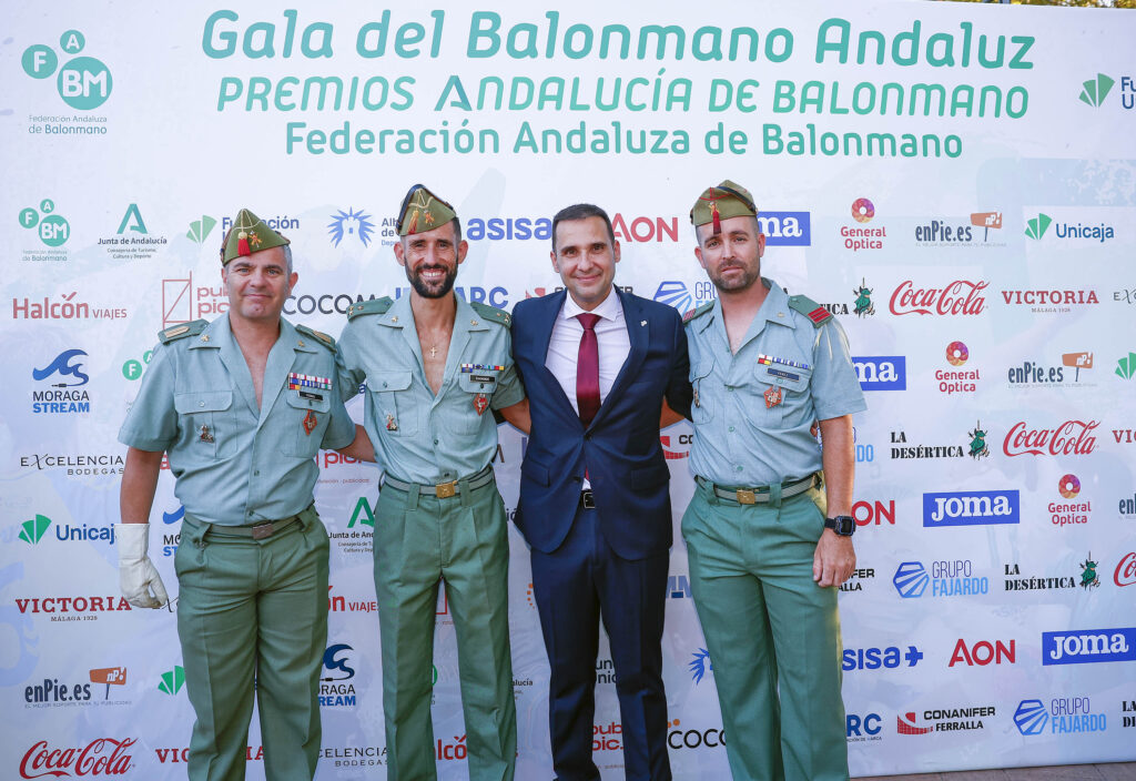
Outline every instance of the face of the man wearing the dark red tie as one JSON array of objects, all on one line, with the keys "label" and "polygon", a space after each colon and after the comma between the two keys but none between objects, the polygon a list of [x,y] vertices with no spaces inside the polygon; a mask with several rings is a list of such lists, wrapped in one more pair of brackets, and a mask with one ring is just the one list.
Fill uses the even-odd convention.
[{"label": "face of the man wearing the dark red tie", "polygon": [[602,217],[559,222],[551,257],[552,268],[582,309],[595,309],[611,293],[619,242],[612,242]]}]

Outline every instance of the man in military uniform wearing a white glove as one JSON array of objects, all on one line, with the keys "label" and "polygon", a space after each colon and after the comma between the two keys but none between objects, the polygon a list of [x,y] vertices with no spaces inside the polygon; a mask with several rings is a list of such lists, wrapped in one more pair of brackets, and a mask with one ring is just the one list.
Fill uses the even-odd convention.
[{"label": "man in military uniform wearing a white glove", "polygon": [[[352,445],[356,426],[335,387],[334,341],[281,317],[296,278],[287,240],[242,209],[222,244],[228,313],[159,334],[118,434],[119,578],[132,605],[168,602],[147,556],[162,453],[185,505],[175,570],[197,715],[191,781],[244,778],[254,681],[266,775],[310,781],[319,756],[328,544],[314,456]],[[344,452],[365,456],[359,439]]]}]

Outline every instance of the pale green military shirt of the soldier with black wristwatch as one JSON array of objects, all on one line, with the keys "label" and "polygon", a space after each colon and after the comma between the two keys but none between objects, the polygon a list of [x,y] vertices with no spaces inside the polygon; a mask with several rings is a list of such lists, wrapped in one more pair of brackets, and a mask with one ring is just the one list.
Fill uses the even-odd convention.
[{"label": "pale green military shirt of the soldier with black wristwatch", "polygon": [[[819,327],[769,288],[737,353],[713,304],[686,324],[694,386],[691,469],[725,486],[766,486],[820,469],[816,420],[867,409],[844,329]],[[821,311],[824,314],[825,312]]]}]

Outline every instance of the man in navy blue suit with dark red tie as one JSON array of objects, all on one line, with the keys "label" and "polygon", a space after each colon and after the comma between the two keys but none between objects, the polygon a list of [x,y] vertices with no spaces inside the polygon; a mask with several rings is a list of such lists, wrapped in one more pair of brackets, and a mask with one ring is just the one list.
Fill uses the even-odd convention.
[{"label": "man in navy blue suit with dark red tie", "polygon": [[670,779],[662,622],[670,472],[659,443],[666,396],[688,414],[678,312],[615,287],[619,242],[599,207],[552,220],[566,292],[518,302],[512,350],[529,397],[517,526],[549,654],[549,728],[560,781],[590,781],[600,619],[611,641],[627,779]]}]

